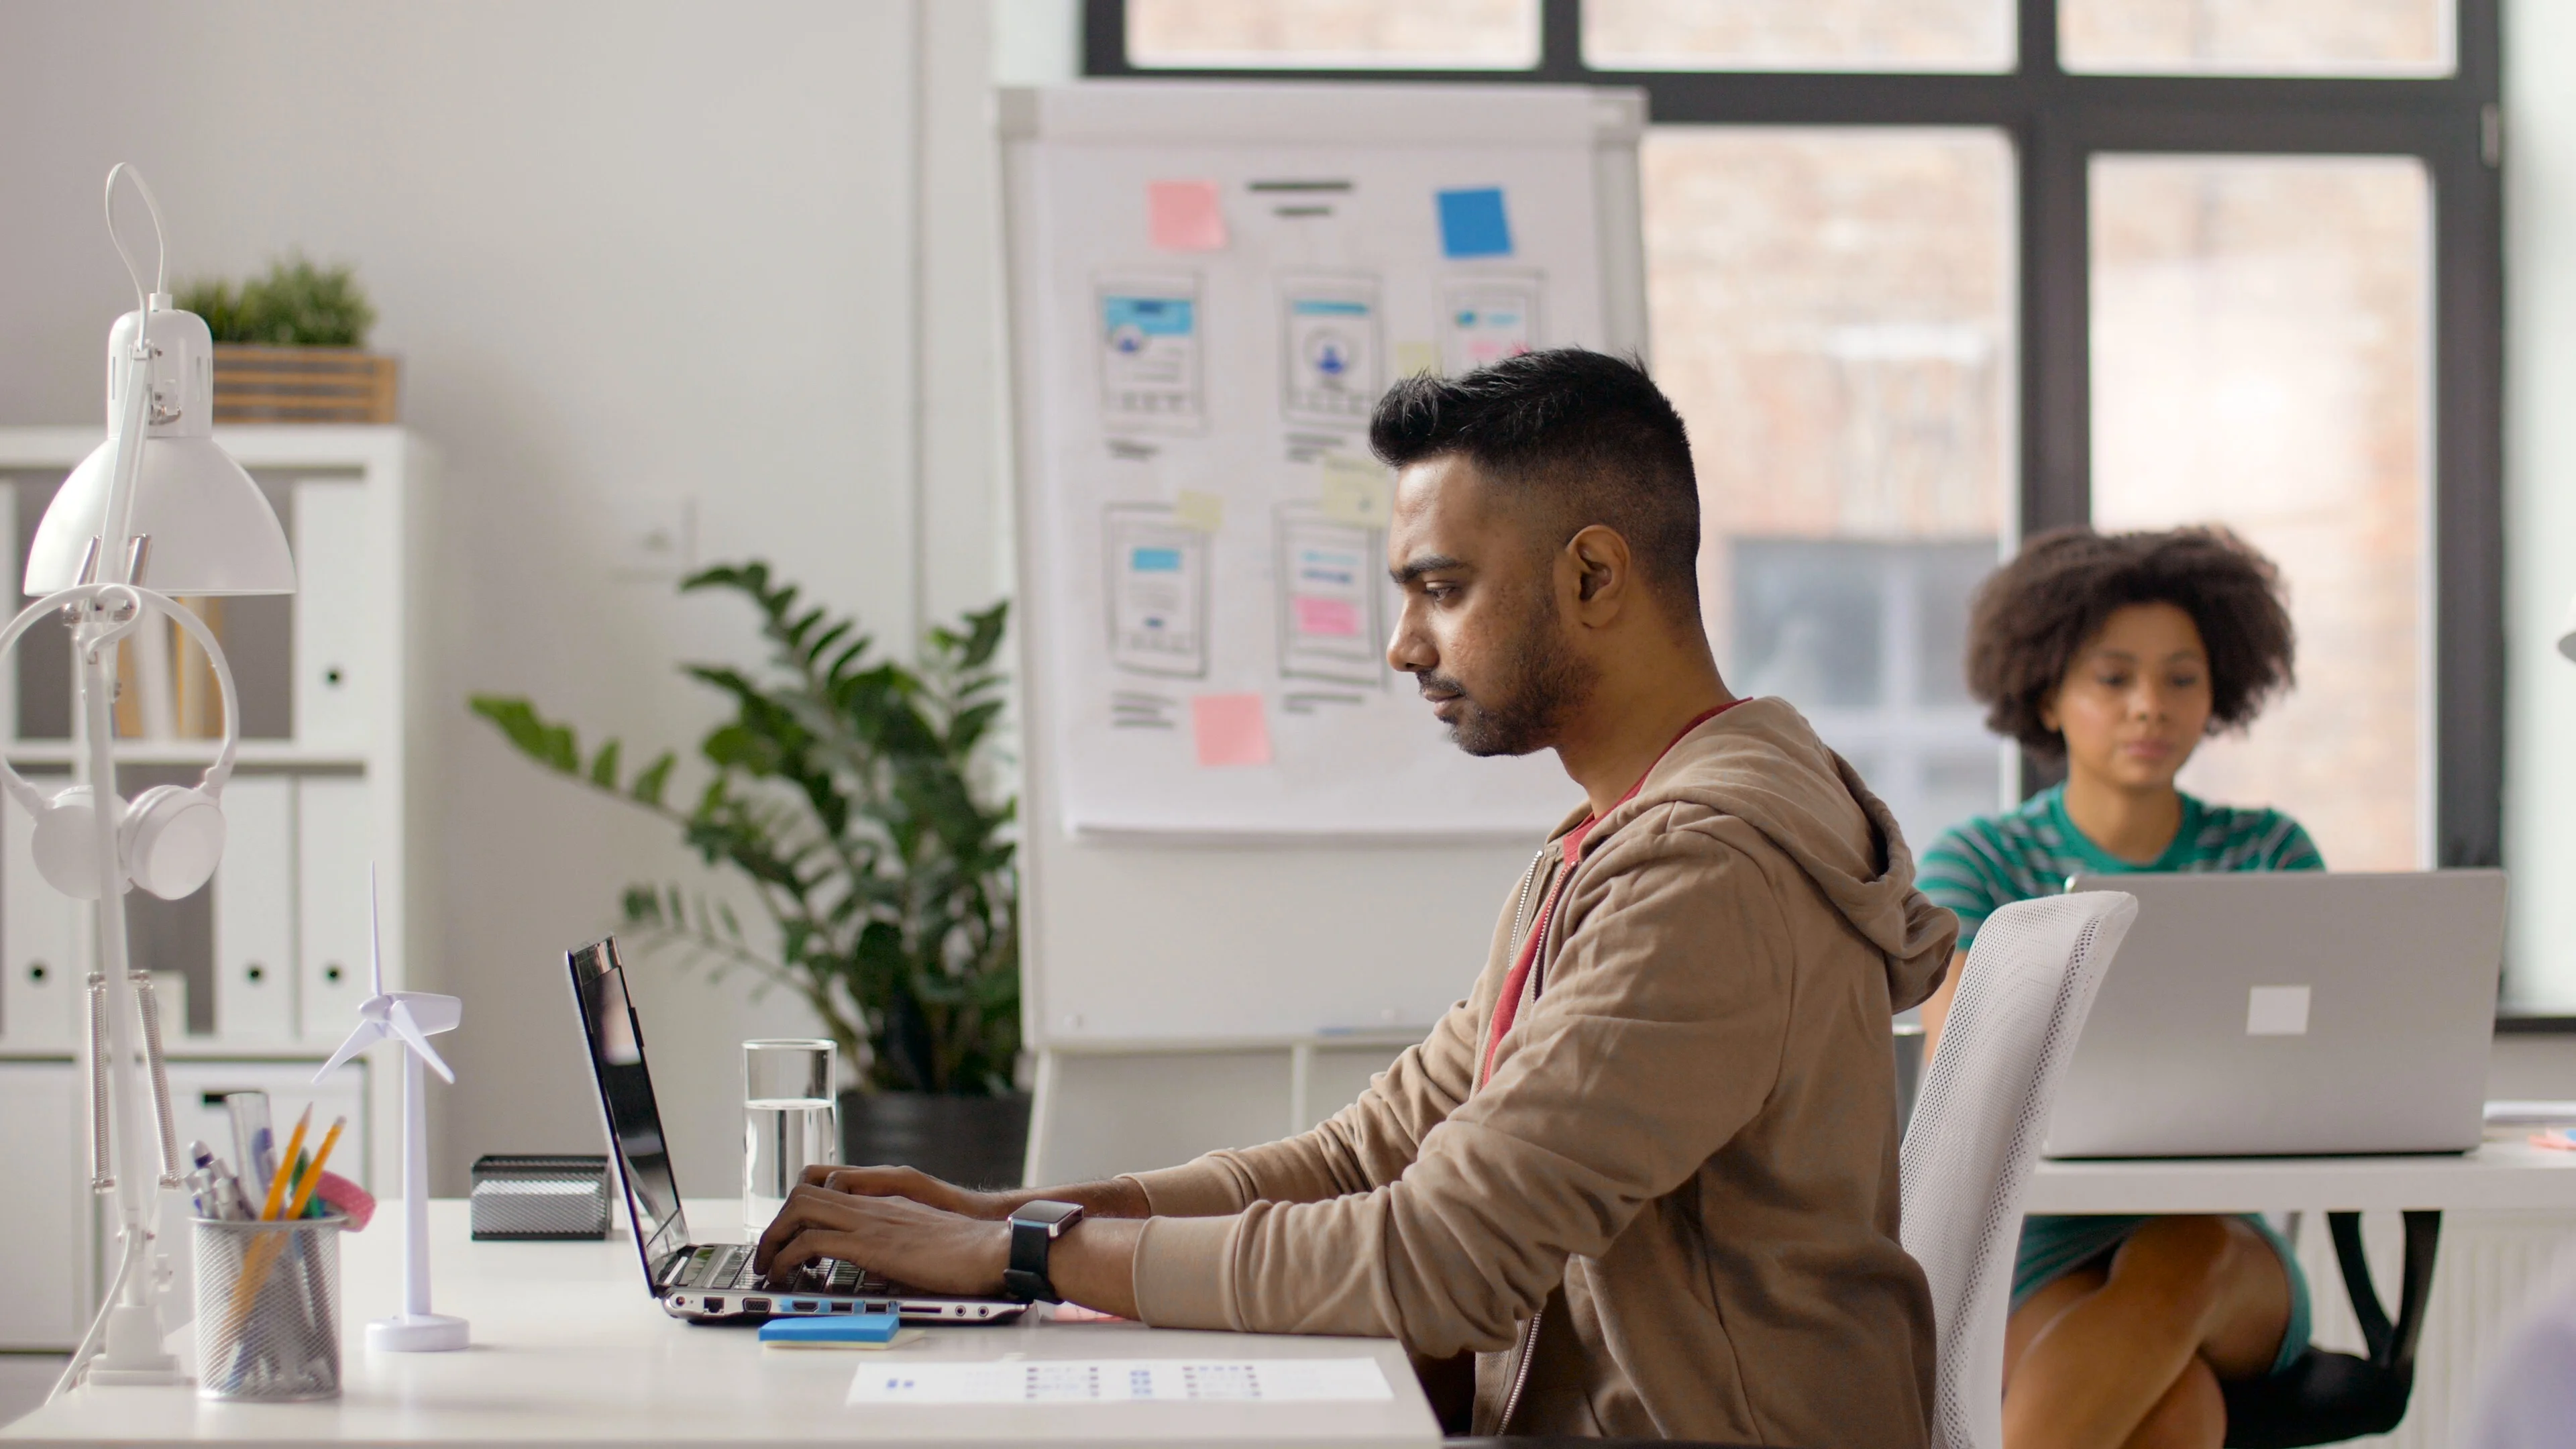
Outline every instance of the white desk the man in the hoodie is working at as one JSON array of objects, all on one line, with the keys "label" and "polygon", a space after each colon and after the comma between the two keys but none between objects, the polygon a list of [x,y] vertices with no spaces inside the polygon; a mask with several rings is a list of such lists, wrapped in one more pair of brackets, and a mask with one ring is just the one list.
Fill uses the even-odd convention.
[{"label": "white desk the man in the hoodie is working at", "polygon": [[[739,1204],[690,1201],[690,1227],[724,1238]],[[1244,1449],[1430,1449],[1440,1428],[1396,1343],[1172,1333],[1133,1323],[933,1328],[884,1354],[760,1348],[747,1328],[696,1328],[644,1294],[634,1243],[471,1243],[466,1204],[433,1201],[438,1310],[474,1323],[464,1354],[368,1354],[366,1320],[399,1302],[402,1209],[343,1238],[343,1397],[317,1405],[206,1403],[193,1387],[93,1390],[0,1428],[0,1441],[183,1444],[791,1444],[907,1441],[1226,1444]],[[188,1333],[175,1333],[173,1346]],[[183,1348],[185,1354],[185,1348]],[[1376,1359],[1388,1403],[1118,1403],[878,1408],[842,1403],[860,1364],[1028,1359]]]}]

